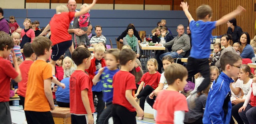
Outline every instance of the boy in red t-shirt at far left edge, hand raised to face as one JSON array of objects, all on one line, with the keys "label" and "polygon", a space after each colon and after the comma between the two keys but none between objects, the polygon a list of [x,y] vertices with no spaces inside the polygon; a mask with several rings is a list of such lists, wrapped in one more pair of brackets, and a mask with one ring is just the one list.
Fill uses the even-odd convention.
[{"label": "boy in red t-shirt at far left edge, hand raised to face", "polygon": [[2,124],[12,123],[9,106],[11,78],[16,82],[22,80],[14,51],[12,51],[12,57],[15,69],[12,67],[11,62],[6,60],[13,47],[14,42],[12,37],[3,31],[0,31],[0,120]]}]

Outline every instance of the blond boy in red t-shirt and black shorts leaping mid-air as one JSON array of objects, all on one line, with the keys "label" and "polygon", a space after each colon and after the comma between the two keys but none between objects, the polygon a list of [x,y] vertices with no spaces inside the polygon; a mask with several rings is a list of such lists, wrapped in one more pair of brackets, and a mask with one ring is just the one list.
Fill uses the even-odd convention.
[{"label": "blond boy in red t-shirt and black shorts leaping mid-air", "polygon": [[85,9],[80,12],[68,12],[68,7],[60,5],[56,7],[56,14],[52,17],[50,23],[46,26],[44,31],[40,34],[43,35],[46,31],[51,30],[52,41],[52,56],[50,64],[52,65],[52,75],[55,75],[55,64],[61,55],[69,48],[70,53],[74,51],[71,35],[68,33],[70,22],[82,14],[86,14],[95,4],[97,0],[93,0]]}]

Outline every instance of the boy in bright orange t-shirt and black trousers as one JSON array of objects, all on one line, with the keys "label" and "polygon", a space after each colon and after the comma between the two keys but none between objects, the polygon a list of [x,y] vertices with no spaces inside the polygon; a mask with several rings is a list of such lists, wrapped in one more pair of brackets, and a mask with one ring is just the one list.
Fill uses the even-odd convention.
[{"label": "boy in bright orange t-shirt and black trousers", "polygon": [[52,78],[52,68],[46,60],[51,55],[52,42],[50,39],[38,36],[31,47],[37,56],[28,72],[24,111],[28,124],[54,124],[52,113],[54,102],[52,98],[51,82],[65,88],[63,83]]}]

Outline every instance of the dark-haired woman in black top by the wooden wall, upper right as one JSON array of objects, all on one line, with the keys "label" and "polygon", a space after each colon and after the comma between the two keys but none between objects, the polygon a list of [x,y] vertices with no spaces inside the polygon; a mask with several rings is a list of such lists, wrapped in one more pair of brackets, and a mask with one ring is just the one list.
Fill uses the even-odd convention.
[{"label": "dark-haired woman in black top by the wooden wall, upper right", "polygon": [[227,33],[232,35],[233,43],[231,45],[233,45],[234,43],[239,41],[238,39],[239,39],[240,35],[242,34],[243,30],[241,27],[236,25],[236,18],[229,20],[227,22],[227,25],[228,25]]}]

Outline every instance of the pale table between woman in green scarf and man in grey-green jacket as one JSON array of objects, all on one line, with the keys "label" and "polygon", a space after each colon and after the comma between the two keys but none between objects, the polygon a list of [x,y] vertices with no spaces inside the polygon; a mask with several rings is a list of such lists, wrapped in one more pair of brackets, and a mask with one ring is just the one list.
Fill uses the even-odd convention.
[{"label": "pale table between woman in green scarf and man in grey-green jacket", "polygon": [[[166,48],[163,46],[146,46],[144,43],[140,43],[140,48],[144,51],[144,55],[147,55],[149,59],[154,58],[156,56],[156,50],[165,50]],[[154,50],[154,54],[153,54]]]}]

